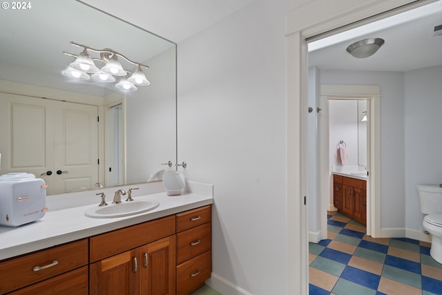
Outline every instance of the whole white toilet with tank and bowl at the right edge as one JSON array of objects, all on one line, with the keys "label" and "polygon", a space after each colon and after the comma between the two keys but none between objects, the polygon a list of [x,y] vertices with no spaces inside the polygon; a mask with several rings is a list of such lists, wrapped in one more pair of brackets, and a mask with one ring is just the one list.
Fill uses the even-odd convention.
[{"label": "whole white toilet with tank and bowl at the right edge", "polygon": [[427,214],[423,218],[423,228],[432,234],[430,255],[438,263],[442,263],[442,186],[418,185],[421,212]]}]

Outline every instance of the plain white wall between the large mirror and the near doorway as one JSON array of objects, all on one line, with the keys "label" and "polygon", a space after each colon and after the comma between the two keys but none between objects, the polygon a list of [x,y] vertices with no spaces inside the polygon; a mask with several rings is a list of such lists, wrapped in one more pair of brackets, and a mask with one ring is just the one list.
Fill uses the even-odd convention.
[{"label": "plain white wall between the large mirror and the near doorway", "polygon": [[178,160],[214,184],[212,281],[226,295],[287,294],[291,2],[253,1],[178,44]]}]

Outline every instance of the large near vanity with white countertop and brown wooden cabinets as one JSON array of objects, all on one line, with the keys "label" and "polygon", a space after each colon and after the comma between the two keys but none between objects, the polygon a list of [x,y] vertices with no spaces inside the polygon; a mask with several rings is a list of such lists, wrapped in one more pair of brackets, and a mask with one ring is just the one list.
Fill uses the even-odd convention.
[{"label": "large near vanity with white countertop and brown wooden cabinets", "polygon": [[[185,295],[203,285],[211,276],[213,197],[161,192],[138,198],[160,206],[106,219],[87,218],[90,205],[79,206],[48,211],[24,227],[0,227],[0,294]],[[26,236],[35,229],[41,234]],[[17,244],[10,248],[15,251],[8,244]]]}]

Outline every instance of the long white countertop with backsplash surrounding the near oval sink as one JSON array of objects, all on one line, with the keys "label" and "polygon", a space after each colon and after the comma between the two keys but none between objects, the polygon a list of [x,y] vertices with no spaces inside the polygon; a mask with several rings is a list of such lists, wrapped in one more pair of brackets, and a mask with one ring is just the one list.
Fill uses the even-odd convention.
[{"label": "long white countertop with backsplash surrounding the near oval sink", "polygon": [[[164,191],[135,196],[135,191],[133,191],[134,200],[157,200],[160,202],[160,206],[145,213],[119,218],[88,218],[84,216],[86,209],[98,206],[100,199],[92,197],[97,190],[77,193],[78,204],[76,206],[73,205],[75,202],[73,200],[76,198],[75,193],[68,194],[69,198],[66,198],[68,199],[66,201],[70,202],[68,207],[57,204],[57,202],[61,202],[61,198],[64,198],[64,196],[59,196],[55,198],[57,200],[52,201],[52,205],[56,209],[52,210],[50,202],[48,202],[49,211],[40,220],[21,227],[0,226],[0,260],[213,204],[213,186],[211,184],[198,184],[197,182],[190,184],[189,187],[195,189],[186,189],[186,192],[180,196],[166,196]],[[151,184],[138,185],[142,193],[149,191],[149,189],[142,188],[144,185],[151,187]],[[153,191],[158,191],[158,184],[153,185],[156,185],[156,189]],[[111,190],[115,190],[115,188]],[[86,194],[88,194],[87,201],[84,202]],[[106,195],[109,195],[109,192]],[[48,196],[49,198],[50,196]],[[109,204],[112,202],[109,197],[106,201]]]}]

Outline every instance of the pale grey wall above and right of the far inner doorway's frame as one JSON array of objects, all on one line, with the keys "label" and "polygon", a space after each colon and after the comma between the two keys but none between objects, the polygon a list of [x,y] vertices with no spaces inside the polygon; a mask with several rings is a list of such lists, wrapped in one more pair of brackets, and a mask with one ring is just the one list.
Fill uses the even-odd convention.
[{"label": "pale grey wall above and right of the far inner doorway's frame", "polygon": [[321,70],[321,84],[381,86],[381,228],[405,227],[404,74]]}]

